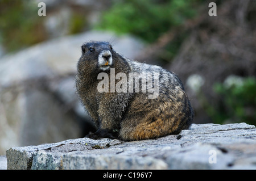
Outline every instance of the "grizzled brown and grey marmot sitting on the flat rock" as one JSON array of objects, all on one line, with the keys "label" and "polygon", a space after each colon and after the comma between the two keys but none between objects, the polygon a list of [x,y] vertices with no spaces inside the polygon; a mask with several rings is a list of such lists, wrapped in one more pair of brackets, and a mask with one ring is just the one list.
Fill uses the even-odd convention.
[{"label": "grizzled brown and grey marmot sitting on the flat rock", "polygon": [[97,128],[88,137],[133,141],[189,128],[193,110],[175,73],[129,60],[105,41],[81,48],[76,92]]}]

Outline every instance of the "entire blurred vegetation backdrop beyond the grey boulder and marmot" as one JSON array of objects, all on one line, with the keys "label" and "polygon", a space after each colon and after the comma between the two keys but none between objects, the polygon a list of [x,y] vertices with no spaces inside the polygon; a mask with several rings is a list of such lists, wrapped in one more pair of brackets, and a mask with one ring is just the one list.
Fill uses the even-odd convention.
[{"label": "entire blurred vegetation backdrop beyond the grey boulder and marmot", "polygon": [[0,56],[87,31],[131,35],[138,61],[179,75],[195,123],[256,125],[256,1],[42,1],[38,16],[39,2],[0,1]]}]

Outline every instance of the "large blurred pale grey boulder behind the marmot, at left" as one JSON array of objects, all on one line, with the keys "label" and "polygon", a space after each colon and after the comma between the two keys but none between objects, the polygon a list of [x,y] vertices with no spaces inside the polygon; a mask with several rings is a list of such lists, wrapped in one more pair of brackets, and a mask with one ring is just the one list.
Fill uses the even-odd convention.
[{"label": "large blurred pale grey boulder behind the marmot, at left", "polygon": [[141,41],[89,31],[37,44],[0,60],[0,155],[13,146],[84,137],[93,129],[75,94],[76,64],[85,41],[115,41],[134,58]]}]

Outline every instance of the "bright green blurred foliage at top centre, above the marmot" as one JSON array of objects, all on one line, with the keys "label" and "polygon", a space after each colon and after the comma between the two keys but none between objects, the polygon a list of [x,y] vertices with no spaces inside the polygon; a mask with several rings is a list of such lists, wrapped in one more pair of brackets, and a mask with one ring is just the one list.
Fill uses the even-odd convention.
[{"label": "bright green blurred foliage at top centre, above the marmot", "polygon": [[154,42],[171,27],[179,26],[197,14],[199,0],[117,1],[104,12],[98,28],[130,33],[148,43]]}]

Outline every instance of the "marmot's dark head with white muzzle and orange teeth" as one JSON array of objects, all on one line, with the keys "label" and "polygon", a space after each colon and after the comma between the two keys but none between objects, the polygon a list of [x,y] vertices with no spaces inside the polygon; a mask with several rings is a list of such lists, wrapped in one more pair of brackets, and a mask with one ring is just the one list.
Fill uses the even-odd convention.
[{"label": "marmot's dark head with white muzzle and orange teeth", "polygon": [[105,41],[89,41],[82,45],[80,64],[91,70],[109,70],[114,65],[117,53]]}]

